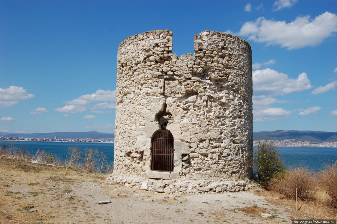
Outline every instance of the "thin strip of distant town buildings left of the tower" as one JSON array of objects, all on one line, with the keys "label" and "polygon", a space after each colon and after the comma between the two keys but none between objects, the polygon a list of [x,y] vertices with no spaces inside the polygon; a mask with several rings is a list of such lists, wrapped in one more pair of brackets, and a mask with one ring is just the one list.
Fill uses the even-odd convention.
[{"label": "thin strip of distant town buildings left of the tower", "polygon": [[70,142],[109,142],[114,143],[115,140],[105,140],[105,139],[93,139],[93,138],[66,138],[66,139],[58,139],[57,136],[54,138],[23,138],[23,137],[5,137],[0,136],[0,140],[8,140],[8,141],[70,141]]}]

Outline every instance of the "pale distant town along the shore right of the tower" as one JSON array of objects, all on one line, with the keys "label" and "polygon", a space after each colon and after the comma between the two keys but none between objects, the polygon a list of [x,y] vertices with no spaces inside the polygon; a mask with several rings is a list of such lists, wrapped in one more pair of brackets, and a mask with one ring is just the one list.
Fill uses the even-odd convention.
[{"label": "pale distant town along the shore right of the tower", "polygon": [[[307,140],[271,140],[274,142],[275,146],[295,146],[295,147],[337,147],[336,141],[325,141],[325,142],[311,142]],[[254,146],[258,145],[258,141],[253,142]]]}]

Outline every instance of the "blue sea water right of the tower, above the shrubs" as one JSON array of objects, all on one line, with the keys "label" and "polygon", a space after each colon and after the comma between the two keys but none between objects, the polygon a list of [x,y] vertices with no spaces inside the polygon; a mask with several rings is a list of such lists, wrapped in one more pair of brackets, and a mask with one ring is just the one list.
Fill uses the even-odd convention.
[{"label": "blue sea water right of the tower, above the shrubs", "polygon": [[[276,147],[286,168],[299,165],[307,166],[312,171],[319,171],[324,164],[337,161],[337,148],[327,147]],[[256,146],[254,146],[256,150]]]}]

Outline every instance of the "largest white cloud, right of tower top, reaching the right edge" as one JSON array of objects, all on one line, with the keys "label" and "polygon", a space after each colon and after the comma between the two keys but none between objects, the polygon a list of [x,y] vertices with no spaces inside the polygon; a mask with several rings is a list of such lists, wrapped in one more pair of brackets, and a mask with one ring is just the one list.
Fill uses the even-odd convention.
[{"label": "largest white cloud, right of tower top, reaching the right edge", "polygon": [[266,45],[281,45],[291,50],[318,45],[335,32],[336,14],[324,12],[313,20],[306,15],[297,17],[290,23],[260,17],[256,21],[244,23],[237,35],[248,36],[248,39]]}]

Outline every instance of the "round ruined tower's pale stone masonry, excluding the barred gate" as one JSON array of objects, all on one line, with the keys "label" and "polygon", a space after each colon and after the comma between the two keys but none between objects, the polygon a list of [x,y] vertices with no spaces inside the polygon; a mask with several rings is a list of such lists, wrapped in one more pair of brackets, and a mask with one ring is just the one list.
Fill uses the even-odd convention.
[{"label": "round ruined tower's pale stone masonry, excluding the barred gate", "polygon": [[[241,191],[252,175],[251,47],[214,31],[194,54],[172,54],[172,32],[125,39],[118,49],[114,172],[156,192]],[[152,171],[152,138],[174,137],[173,172]]]}]

